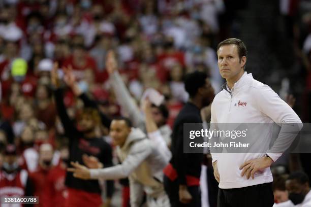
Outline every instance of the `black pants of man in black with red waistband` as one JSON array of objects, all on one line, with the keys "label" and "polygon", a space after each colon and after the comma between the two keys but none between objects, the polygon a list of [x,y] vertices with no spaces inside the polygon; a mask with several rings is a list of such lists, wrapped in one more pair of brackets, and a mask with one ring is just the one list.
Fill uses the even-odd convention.
[{"label": "black pants of man in black with red waistband", "polygon": [[192,196],[192,200],[188,204],[179,202],[179,184],[177,179],[173,182],[164,176],[164,189],[170,198],[171,207],[201,207],[200,186],[189,186],[188,191]]}]

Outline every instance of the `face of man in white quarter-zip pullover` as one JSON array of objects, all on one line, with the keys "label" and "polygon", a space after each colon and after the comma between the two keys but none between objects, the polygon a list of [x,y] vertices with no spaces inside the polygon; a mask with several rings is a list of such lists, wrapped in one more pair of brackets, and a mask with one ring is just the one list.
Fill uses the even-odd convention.
[{"label": "face of man in white quarter-zip pullover", "polygon": [[236,45],[223,45],[217,51],[218,67],[220,74],[226,80],[234,79],[240,73],[243,73],[243,66],[246,63],[246,57],[239,58]]}]

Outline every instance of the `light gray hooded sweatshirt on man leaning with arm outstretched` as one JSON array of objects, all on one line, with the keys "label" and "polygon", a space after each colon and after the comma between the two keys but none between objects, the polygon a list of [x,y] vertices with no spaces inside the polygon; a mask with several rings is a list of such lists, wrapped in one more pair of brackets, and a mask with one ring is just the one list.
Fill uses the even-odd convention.
[{"label": "light gray hooded sweatshirt on man leaning with arm outstretched", "polygon": [[122,164],[102,169],[90,169],[92,179],[114,180],[129,177],[131,206],[139,206],[143,192],[157,198],[165,194],[163,168],[168,164],[154,142],[138,128],[132,128],[125,144],[117,147]]}]

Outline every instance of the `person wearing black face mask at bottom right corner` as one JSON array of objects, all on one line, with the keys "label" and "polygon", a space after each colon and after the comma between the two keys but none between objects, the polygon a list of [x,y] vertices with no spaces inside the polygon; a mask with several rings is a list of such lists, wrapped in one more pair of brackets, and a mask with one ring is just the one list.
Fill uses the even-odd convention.
[{"label": "person wearing black face mask at bottom right corner", "polygon": [[273,207],[310,207],[311,191],[308,176],[301,171],[292,172],[285,183],[289,200],[274,203]]}]

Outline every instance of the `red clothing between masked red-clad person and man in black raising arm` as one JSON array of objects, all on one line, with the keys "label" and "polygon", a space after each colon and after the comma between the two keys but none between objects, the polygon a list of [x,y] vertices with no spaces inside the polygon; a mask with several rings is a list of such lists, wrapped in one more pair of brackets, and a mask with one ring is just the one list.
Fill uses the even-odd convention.
[{"label": "red clothing between masked red-clad person and man in black raising arm", "polygon": [[45,197],[44,200],[47,201],[44,206],[65,206],[65,200],[68,197],[65,178],[66,169],[60,165],[55,166],[49,171],[43,195]]}]

